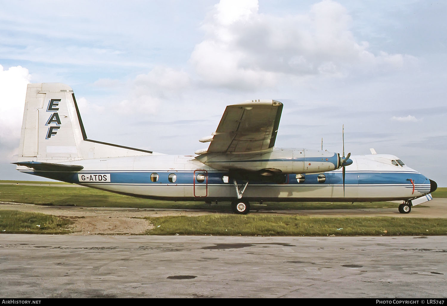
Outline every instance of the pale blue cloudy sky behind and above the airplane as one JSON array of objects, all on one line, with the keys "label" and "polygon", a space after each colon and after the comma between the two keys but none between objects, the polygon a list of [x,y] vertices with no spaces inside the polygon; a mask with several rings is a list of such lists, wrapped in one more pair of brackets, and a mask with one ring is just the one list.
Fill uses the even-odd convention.
[{"label": "pale blue cloudy sky behind and above the airplane", "polygon": [[0,0],[0,179],[28,83],[76,95],[89,139],[167,154],[225,106],[283,102],[276,147],[398,156],[447,187],[447,2]]}]

